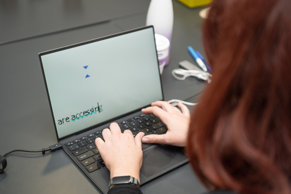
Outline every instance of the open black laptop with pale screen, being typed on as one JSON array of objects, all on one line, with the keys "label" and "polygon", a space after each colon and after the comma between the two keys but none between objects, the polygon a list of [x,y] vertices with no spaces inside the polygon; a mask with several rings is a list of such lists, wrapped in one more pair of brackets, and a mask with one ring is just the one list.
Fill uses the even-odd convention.
[{"label": "open black laptop with pale screen, being typed on", "polygon": [[[153,26],[41,52],[39,59],[58,142],[107,193],[110,172],[95,146],[102,130],[117,122],[134,136],[167,131],[155,115],[141,112],[164,100]],[[188,161],[180,147],[142,149],[141,185]]]}]

